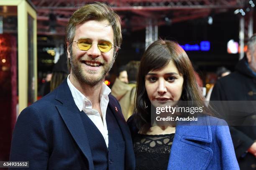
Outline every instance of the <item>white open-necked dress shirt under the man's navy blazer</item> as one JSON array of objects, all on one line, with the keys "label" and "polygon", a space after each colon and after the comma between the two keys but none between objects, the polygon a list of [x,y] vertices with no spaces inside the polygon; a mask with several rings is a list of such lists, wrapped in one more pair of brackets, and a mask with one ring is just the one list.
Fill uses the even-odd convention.
[{"label": "white open-necked dress shirt under the man's navy blazer", "polygon": [[69,80],[69,76],[67,78],[67,83],[69,85],[69,89],[72,93],[75,104],[77,105],[80,112],[84,111],[85,114],[92,120],[95,126],[99,129],[102,134],[106,145],[108,147],[108,128],[106,122],[106,111],[108,107],[108,94],[110,94],[111,89],[105,84],[102,83],[100,89],[100,111],[102,114],[102,119],[100,117],[100,113],[92,109],[92,102],[86,98]]}]

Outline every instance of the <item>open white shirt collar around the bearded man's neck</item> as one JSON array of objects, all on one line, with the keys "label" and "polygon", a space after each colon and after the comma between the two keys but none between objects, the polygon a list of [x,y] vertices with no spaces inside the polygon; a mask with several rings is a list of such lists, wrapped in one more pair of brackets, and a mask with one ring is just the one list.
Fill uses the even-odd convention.
[{"label": "open white shirt collar around the bearded man's neck", "polygon": [[[70,75],[70,74],[69,74]],[[72,93],[73,99],[75,104],[77,105],[79,111],[81,112],[84,106],[84,101],[88,100],[86,96],[84,96],[69,80],[69,76],[67,77],[67,84],[69,86],[69,89]],[[108,96],[110,94],[111,89],[105,84],[102,83],[101,89],[100,89],[100,100],[103,96]],[[90,100],[88,100],[90,101]]]}]

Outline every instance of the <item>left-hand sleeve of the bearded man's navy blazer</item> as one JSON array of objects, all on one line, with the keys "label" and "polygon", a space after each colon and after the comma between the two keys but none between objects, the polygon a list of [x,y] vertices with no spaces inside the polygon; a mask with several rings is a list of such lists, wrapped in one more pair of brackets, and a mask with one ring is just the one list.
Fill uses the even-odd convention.
[{"label": "left-hand sleeve of the bearded man's navy blazer", "polygon": [[29,161],[29,168],[25,170],[46,170],[48,157],[46,133],[39,112],[27,107],[20,113],[13,130],[10,161]]}]

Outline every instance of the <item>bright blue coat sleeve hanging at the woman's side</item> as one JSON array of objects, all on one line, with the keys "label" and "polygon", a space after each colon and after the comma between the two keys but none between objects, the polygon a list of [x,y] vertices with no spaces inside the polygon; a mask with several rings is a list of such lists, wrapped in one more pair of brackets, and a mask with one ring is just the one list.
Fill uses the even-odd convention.
[{"label": "bright blue coat sleeve hanging at the woman's side", "polygon": [[216,138],[220,148],[221,169],[239,170],[228,125],[222,119],[219,120],[218,124],[216,126]]}]

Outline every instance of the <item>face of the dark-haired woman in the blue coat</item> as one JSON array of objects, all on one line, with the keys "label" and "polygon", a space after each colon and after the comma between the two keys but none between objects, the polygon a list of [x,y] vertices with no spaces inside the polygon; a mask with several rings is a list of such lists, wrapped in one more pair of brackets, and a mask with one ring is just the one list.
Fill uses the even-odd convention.
[{"label": "face of the dark-haired woman in the blue coat", "polygon": [[173,61],[160,70],[146,74],[145,86],[149,100],[164,104],[179,101],[183,88],[183,75],[179,74]]}]

